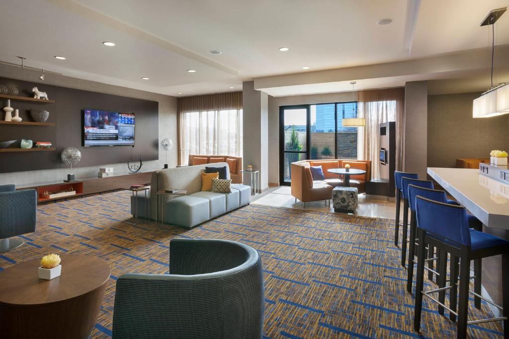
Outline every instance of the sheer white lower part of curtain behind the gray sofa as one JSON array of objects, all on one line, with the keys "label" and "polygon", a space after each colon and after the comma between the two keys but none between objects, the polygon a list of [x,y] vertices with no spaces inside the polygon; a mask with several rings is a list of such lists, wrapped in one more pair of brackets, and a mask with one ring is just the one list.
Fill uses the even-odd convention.
[{"label": "sheer white lower part of curtain behind the gray sofa", "polygon": [[182,112],[180,144],[188,154],[242,157],[242,109]]}]

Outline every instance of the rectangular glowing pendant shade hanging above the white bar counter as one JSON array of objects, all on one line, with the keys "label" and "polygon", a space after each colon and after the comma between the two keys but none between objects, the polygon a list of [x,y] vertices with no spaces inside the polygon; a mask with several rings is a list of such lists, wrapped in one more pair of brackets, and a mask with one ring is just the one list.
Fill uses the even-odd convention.
[{"label": "rectangular glowing pendant shade hanging above the white bar counter", "polygon": [[509,113],[509,84],[494,88],[473,101],[474,118],[489,118],[507,113]]}]

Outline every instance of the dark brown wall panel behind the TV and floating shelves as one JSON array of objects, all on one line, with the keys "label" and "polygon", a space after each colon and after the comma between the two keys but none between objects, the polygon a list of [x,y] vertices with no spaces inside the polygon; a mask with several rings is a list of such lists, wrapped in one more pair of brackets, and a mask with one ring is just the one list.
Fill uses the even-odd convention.
[{"label": "dark brown wall panel behind the TV and floating shelves", "polygon": [[[45,91],[48,98],[55,103],[12,101],[11,107],[19,109],[23,121],[33,121],[30,109],[38,108],[49,111],[47,122],[55,126],[14,126],[0,125],[0,141],[31,139],[34,141],[51,141],[55,151],[43,152],[8,152],[0,153],[0,173],[53,169],[65,167],[60,160],[60,153],[66,147],[73,146],[81,150],[81,161],[77,167],[103,164],[123,163],[137,160],[158,160],[158,102],[127,98],[115,95],[95,93],[92,91],[52,86],[8,78],[0,78],[0,84],[19,89],[20,96],[33,96],[32,87]],[[7,99],[2,99],[2,108]],[[97,108],[119,112],[133,112],[135,121],[135,146],[82,146],[82,110]],[[5,119],[5,113],[0,112]],[[14,115],[14,111],[13,111]]]}]

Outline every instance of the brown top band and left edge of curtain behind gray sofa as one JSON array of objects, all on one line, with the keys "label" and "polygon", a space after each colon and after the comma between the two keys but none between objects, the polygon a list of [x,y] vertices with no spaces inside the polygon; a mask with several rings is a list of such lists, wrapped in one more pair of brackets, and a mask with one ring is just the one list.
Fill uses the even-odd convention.
[{"label": "brown top band and left edge of curtain behind gray sofa", "polygon": [[182,164],[180,114],[183,112],[216,111],[222,109],[241,109],[242,91],[206,94],[203,96],[183,97],[177,99],[177,135],[178,135],[178,164]]}]

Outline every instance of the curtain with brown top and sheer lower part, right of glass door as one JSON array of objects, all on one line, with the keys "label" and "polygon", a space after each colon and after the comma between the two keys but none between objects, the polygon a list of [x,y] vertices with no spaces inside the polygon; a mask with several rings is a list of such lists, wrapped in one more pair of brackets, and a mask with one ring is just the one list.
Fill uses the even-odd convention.
[{"label": "curtain with brown top and sheer lower part, right of glass door", "polygon": [[[396,122],[396,170],[403,168],[403,140],[405,124],[405,91],[403,87],[360,90],[358,92],[359,116],[366,119],[363,135],[359,139],[363,142],[359,156],[371,160],[373,164],[379,162],[380,129],[382,122]],[[361,134],[359,133],[359,134]],[[362,153],[361,153],[362,152]],[[380,178],[378,166],[372,166],[372,179]]]}]

